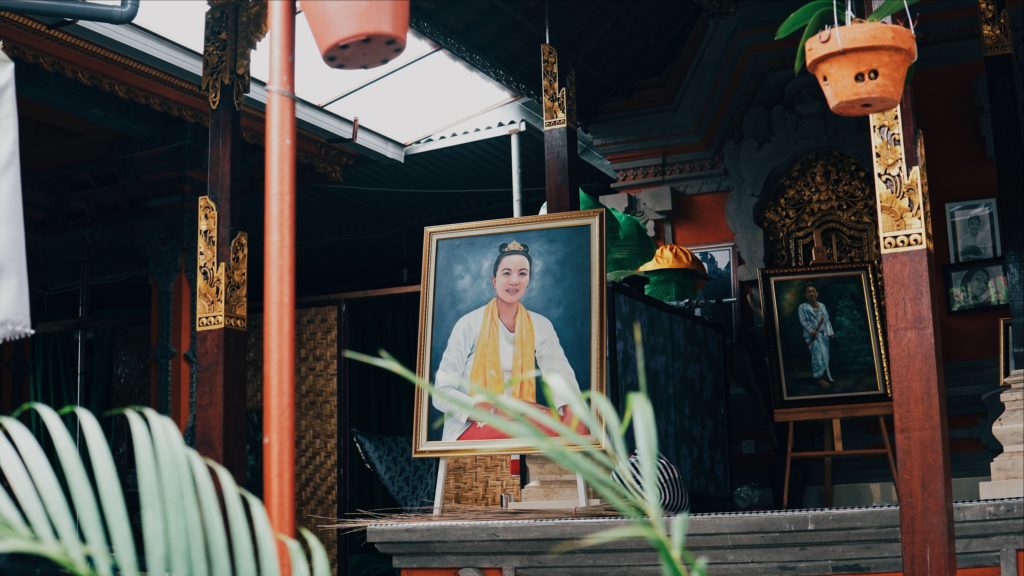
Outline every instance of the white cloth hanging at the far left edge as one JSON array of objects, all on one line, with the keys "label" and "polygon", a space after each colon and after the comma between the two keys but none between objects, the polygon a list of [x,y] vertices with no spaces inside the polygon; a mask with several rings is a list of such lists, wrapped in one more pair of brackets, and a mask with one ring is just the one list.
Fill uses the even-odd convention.
[{"label": "white cloth hanging at the far left edge", "polygon": [[0,50],[0,342],[31,335],[14,63]]}]

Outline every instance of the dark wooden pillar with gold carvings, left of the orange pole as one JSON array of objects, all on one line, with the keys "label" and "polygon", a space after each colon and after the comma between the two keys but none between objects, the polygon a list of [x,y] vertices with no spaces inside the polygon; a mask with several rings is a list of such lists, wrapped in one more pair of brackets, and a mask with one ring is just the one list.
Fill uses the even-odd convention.
[{"label": "dark wooden pillar with gold carvings, left of the orange pole", "polygon": [[239,111],[249,89],[249,52],[266,33],[266,4],[209,4],[203,54],[203,90],[211,108],[209,197],[199,205],[196,448],[244,478],[248,244],[245,233],[230,237],[238,229]]}]

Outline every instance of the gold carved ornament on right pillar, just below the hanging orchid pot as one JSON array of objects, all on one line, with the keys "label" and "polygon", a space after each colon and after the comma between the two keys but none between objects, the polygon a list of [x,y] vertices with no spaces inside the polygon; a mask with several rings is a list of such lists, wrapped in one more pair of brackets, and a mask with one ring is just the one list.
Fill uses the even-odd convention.
[{"label": "gold carved ornament on right pillar, just below the hanging orchid pot", "polygon": [[921,167],[906,169],[900,109],[870,116],[882,253],[927,248]]}]

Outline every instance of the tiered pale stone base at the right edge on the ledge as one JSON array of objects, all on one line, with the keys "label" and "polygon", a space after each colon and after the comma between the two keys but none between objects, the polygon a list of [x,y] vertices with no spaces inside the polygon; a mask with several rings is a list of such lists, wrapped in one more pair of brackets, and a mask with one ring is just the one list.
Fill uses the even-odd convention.
[{"label": "tiered pale stone base at the right edge on the ledge", "polygon": [[1024,371],[1013,372],[1004,382],[1010,386],[999,395],[1006,410],[992,424],[1002,454],[990,464],[992,481],[978,486],[983,500],[1024,496]]}]

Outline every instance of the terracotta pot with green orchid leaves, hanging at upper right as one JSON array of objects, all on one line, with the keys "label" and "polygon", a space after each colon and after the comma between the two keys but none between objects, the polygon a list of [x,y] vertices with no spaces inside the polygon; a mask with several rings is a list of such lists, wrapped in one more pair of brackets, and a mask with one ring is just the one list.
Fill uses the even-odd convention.
[{"label": "terracotta pot with green orchid leaves, hanging at upper right", "polygon": [[[842,47],[841,47],[842,44]],[[906,70],[918,59],[913,33],[901,26],[855,22],[812,36],[804,45],[807,70],[841,116],[896,108]]]}]

